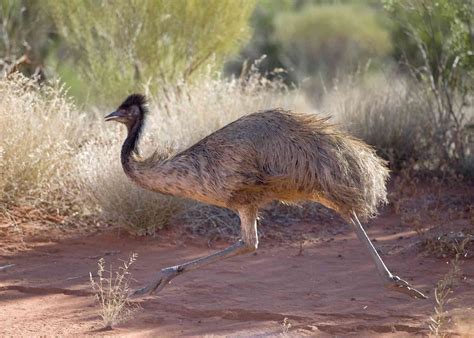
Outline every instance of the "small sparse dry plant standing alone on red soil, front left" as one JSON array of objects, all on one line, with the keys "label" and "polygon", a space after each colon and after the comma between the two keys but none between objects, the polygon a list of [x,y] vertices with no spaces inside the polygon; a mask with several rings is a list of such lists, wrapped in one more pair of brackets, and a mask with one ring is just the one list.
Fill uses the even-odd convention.
[{"label": "small sparse dry plant standing alone on red soil, front left", "polygon": [[105,269],[105,260],[99,259],[97,266],[97,280],[89,273],[92,289],[96,292],[100,306],[100,317],[104,328],[112,329],[113,325],[120,323],[130,317],[137,306],[130,302],[130,281],[132,275],[130,266],[136,261],[137,254],[133,253],[124,261],[115,273]]}]

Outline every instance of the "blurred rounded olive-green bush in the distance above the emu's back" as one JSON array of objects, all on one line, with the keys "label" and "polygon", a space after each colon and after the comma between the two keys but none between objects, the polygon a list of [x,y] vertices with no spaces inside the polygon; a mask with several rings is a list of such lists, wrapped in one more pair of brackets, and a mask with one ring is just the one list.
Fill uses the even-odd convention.
[{"label": "blurred rounded olive-green bush in the distance above the emu's back", "polygon": [[369,1],[261,1],[252,26],[251,41],[227,70],[237,74],[242,60],[267,55],[262,71],[284,68],[315,97],[338,77],[392,61],[389,19]]}]

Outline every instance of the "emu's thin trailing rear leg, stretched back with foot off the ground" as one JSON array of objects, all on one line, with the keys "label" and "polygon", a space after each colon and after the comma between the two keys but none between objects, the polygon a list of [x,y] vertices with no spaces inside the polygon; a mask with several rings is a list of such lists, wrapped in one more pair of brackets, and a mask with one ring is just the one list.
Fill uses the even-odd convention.
[{"label": "emu's thin trailing rear leg, stretched back with foot off the ground", "polygon": [[416,290],[414,287],[408,284],[408,282],[398,276],[392,275],[385,263],[382,261],[382,258],[380,258],[379,253],[375,249],[369,237],[367,236],[367,233],[365,232],[362,224],[360,224],[357,215],[355,214],[355,212],[353,212],[352,214],[353,217],[351,219],[351,222],[357,234],[357,237],[359,237],[359,240],[364,243],[365,247],[369,251],[369,254],[374,260],[375,267],[377,268],[379,275],[385,280],[385,286],[394,291],[406,293],[414,298],[426,299],[427,297],[424,294]]}]

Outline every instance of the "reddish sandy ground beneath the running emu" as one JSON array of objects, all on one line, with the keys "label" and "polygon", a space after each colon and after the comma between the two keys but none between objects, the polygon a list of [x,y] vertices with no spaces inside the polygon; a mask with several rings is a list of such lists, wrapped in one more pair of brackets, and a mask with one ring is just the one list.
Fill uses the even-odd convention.
[{"label": "reddish sandy ground beneath the running emu", "polygon": [[[472,190],[451,195],[464,204],[446,226],[472,230]],[[89,285],[89,272],[97,270],[100,257],[117,267],[131,252],[138,253],[131,272],[139,286],[161,267],[229,243],[209,245],[208,239],[184,233],[179,226],[156,238],[132,237],[114,227],[78,228],[75,236],[64,228],[48,227],[47,233],[21,232],[22,242],[11,227],[0,227],[2,336],[427,335],[433,290],[450,269],[449,257],[420,249],[420,236],[393,208],[368,225],[369,235],[389,268],[425,292],[428,300],[384,289],[349,226],[331,220],[299,222],[277,226],[281,239],[263,238],[256,254],[190,272],[157,296],[136,300],[141,309],[132,318],[103,331]],[[271,225],[265,227],[271,232]],[[456,315],[453,330],[469,336],[474,334],[474,323],[469,322],[474,318],[472,258],[463,261],[462,274],[449,309],[458,309],[451,313]]]}]

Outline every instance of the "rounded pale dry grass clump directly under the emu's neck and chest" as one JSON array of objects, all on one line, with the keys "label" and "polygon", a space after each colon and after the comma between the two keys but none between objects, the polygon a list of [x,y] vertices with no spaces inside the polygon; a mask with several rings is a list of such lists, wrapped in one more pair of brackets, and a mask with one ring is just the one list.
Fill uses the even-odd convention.
[{"label": "rounded pale dry grass clump directly under the emu's neck and chest", "polygon": [[126,177],[120,162],[121,140],[112,139],[113,144],[90,141],[77,155],[76,171],[82,198],[92,212],[124,226],[131,233],[154,234],[181,209],[182,201],[144,190]]}]

